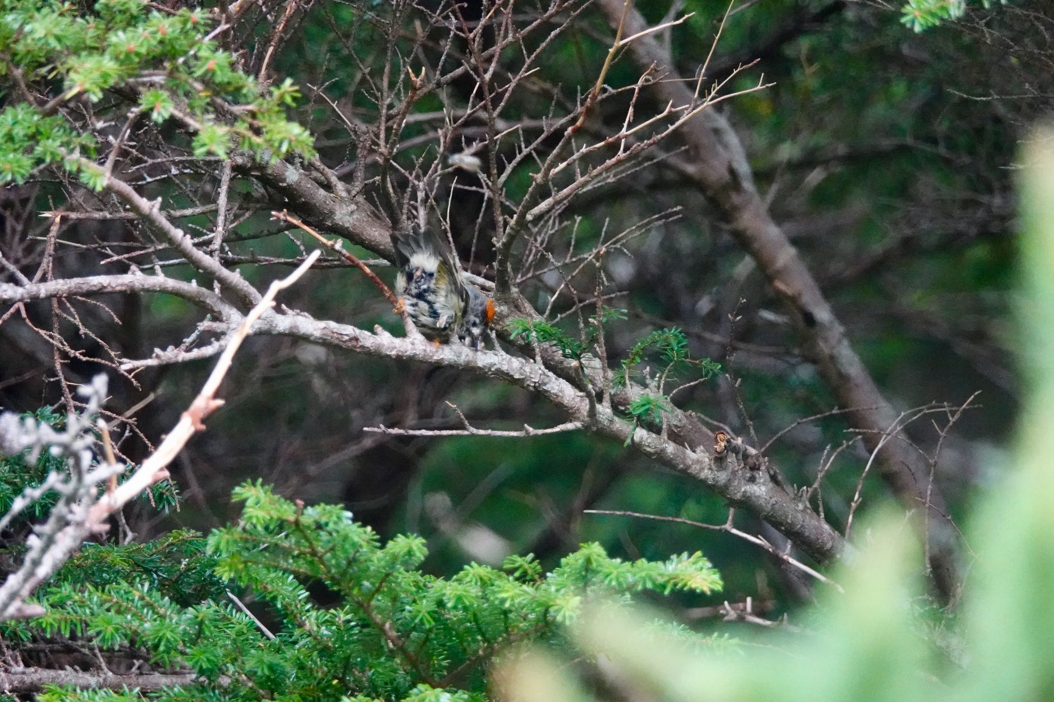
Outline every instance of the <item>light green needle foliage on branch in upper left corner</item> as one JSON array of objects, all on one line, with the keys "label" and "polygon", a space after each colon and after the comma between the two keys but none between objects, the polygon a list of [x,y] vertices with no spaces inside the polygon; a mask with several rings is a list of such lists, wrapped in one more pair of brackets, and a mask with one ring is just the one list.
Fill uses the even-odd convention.
[{"label": "light green needle foliage on branch in upper left corner", "polygon": [[[195,132],[195,156],[225,158],[239,146],[258,158],[294,152],[308,158],[311,135],[286,119],[299,92],[291,81],[268,88],[234,67],[233,55],[210,37],[214,21],[203,9],[173,15],[139,0],[99,0],[92,12],[57,0],[0,0],[0,79],[61,83],[61,100],[83,96],[98,103],[109,89],[134,91],[140,115],[160,124],[178,114]],[[132,87],[135,85],[136,87]],[[235,105],[228,114],[213,98]],[[57,103],[56,103],[57,104]],[[103,169],[84,160],[99,145],[77,132],[53,105],[18,101],[0,111],[0,185],[22,183],[41,166],[62,164],[99,189]],[[227,113],[217,112],[227,109]]]}]

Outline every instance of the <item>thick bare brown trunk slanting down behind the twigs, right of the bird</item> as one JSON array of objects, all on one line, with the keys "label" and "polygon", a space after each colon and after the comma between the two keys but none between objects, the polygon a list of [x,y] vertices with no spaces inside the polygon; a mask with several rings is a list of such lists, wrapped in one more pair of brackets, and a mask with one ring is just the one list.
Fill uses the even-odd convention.
[{"label": "thick bare brown trunk slanting down behind the twigs, right of the bird", "polygon": [[[598,0],[612,25],[622,16],[624,0]],[[624,34],[632,36],[648,28],[636,8],[625,18]],[[669,54],[655,34],[636,39],[628,53],[641,71],[651,66],[660,80],[651,89],[663,103],[687,105],[692,101],[690,83],[672,67]],[[845,336],[797,249],[768,214],[754,186],[743,147],[727,120],[714,109],[703,112],[682,127],[690,162],[679,168],[721,212],[731,234],[758,262],[769,284],[794,312],[806,348],[839,402],[845,407],[862,407],[850,420],[864,430],[864,441],[875,450],[882,435],[893,429],[899,413],[882,396],[871,374]],[[886,441],[879,450],[882,478],[911,512],[929,510],[929,567],[940,595],[952,600],[959,587],[958,537],[948,517],[944,500],[936,486],[929,485],[931,467],[911,445]],[[929,496],[929,497],[928,497]]]}]

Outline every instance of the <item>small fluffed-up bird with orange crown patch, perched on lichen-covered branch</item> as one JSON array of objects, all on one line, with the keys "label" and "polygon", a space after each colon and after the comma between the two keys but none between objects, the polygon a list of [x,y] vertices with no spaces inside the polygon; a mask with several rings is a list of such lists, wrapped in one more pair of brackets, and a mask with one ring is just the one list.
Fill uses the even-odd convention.
[{"label": "small fluffed-up bird with orange crown patch, perched on lichen-covered branch", "polygon": [[392,233],[395,295],[426,339],[483,348],[494,301],[467,282],[453,249],[430,232]]}]

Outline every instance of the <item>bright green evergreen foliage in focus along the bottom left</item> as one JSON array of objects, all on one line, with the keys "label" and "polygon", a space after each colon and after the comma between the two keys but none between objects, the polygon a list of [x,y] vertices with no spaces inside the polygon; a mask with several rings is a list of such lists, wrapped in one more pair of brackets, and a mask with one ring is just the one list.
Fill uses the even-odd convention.
[{"label": "bright green evergreen foliage in focus along the bottom left", "polygon": [[[442,579],[418,569],[427,554],[419,537],[382,543],[339,506],[306,507],[259,483],[234,497],[245,503],[237,525],[207,538],[173,531],[85,548],[39,598],[46,614],[3,624],[4,638],[61,636],[108,656],[142,650],[160,669],[200,676],[156,696],[163,700],[482,700],[488,666],[512,644],[544,642],[573,656],[565,627],[590,602],[721,588],[698,553],[628,562],[598,544],[550,573],[518,556],[502,569],[471,564]],[[235,607],[228,588],[256,598],[273,636]],[[659,636],[669,627],[652,628]],[[100,695],[110,699],[58,689],[41,699]]]}]

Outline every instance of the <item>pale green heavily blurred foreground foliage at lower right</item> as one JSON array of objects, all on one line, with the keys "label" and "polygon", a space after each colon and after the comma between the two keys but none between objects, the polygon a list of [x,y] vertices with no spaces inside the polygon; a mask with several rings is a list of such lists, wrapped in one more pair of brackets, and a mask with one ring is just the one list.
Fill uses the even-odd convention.
[{"label": "pale green heavily blurred foreground foliage at lower right", "polygon": [[[1024,179],[1027,295],[1020,308],[1030,359],[1030,401],[1017,465],[982,500],[968,540],[975,553],[969,595],[951,633],[928,628],[917,574],[905,563],[917,548],[903,520],[873,523],[858,558],[839,576],[845,595],[827,590],[807,635],[766,637],[762,647],[717,659],[676,640],[639,645],[632,616],[596,613],[577,628],[580,643],[603,654],[628,688],[666,702],[843,700],[988,702],[1054,696],[1054,131],[1033,140]],[[935,642],[951,642],[940,651]],[[948,656],[948,653],[954,656]],[[505,700],[584,702],[560,662],[534,655],[499,676]],[[560,681],[553,683],[552,681]],[[541,690],[546,690],[544,696]],[[702,693],[705,690],[705,693]]]}]

